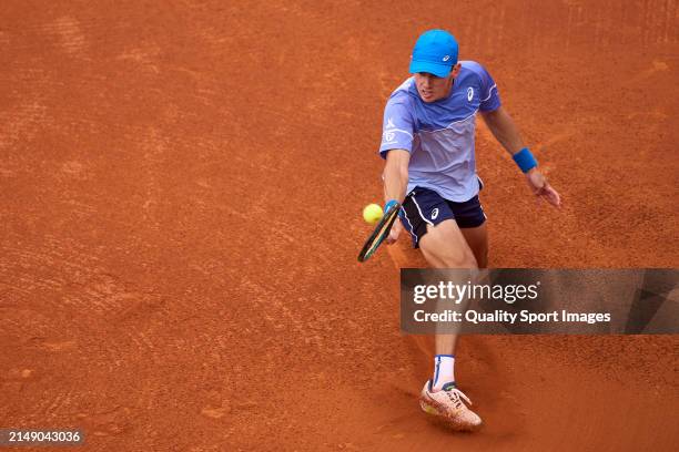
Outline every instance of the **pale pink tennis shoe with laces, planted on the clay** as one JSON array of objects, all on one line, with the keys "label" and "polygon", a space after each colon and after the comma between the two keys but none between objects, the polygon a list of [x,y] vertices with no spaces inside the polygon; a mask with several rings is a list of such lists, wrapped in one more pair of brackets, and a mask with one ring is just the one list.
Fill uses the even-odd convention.
[{"label": "pale pink tennis shoe with laces, planted on the clay", "polygon": [[425,413],[440,417],[453,430],[474,431],[480,428],[482,419],[464,403],[472,404],[472,401],[455,383],[447,383],[436,392],[430,392],[430,380],[427,381],[419,394],[419,405]]}]

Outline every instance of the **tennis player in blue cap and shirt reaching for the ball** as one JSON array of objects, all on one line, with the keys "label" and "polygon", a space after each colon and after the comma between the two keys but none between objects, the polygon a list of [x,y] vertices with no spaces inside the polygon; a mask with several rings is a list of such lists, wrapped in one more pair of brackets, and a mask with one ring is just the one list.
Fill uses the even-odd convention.
[{"label": "tennis player in blue cap and shirt reaching for the ball", "polygon": [[[413,74],[394,91],[384,111],[379,154],[384,168],[385,210],[402,203],[387,244],[403,228],[434,268],[484,268],[488,238],[478,193],[474,135],[476,113],[511,154],[533,193],[554,206],[559,194],[538,170],[517,126],[501,106],[497,85],[479,63],[458,61],[458,44],[444,30],[422,34],[411,58]],[[455,430],[476,430],[482,419],[456,387],[456,335],[437,335],[434,371],[420,393],[427,413]]]}]

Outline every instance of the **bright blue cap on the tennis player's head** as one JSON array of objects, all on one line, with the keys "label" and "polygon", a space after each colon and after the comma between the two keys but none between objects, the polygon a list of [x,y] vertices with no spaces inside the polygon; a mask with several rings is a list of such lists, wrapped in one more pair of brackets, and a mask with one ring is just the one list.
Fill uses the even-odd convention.
[{"label": "bright blue cap on the tennis player's head", "polygon": [[411,58],[411,73],[428,72],[448,76],[457,64],[458,47],[455,37],[445,30],[425,31],[415,43]]}]

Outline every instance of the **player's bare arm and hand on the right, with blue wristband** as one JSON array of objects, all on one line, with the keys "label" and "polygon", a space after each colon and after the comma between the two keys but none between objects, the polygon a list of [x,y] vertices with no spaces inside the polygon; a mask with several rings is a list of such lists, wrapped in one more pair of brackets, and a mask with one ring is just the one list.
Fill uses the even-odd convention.
[{"label": "player's bare arm and hand on the right, with blue wristband", "polygon": [[[495,136],[503,147],[515,157],[515,161],[517,160],[516,156],[527,151],[516,123],[503,106],[498,106],[493,111],[482,111],[480,113],[484,122],[493,133],[493,136]],[[530,158],[533,158],[531,155]],[[556,207],[561,205],[561,197],[558,192],[547,183],[547,178],[538,170],[537,163],[525,172],[525,175],[528,185],[538,198],[544,197],[549,204]]]}]

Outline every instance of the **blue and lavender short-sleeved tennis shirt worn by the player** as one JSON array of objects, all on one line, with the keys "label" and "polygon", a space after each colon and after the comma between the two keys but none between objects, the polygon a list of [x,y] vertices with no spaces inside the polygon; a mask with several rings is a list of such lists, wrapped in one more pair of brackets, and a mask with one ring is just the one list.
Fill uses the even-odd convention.
[{"label": "blue and lavender short-sleeved tennis shirt worn by the player", "polygon": [[417,93],[415,78],[394,91],[384,109],[379,155],[389,150],[411,153],[409,193],[430,188],[446,199],[462,203],[478,194],[474,157],[476,112],[500,106],[490,74],[474,61],[460,61],[450,95],[426,103]]}]

